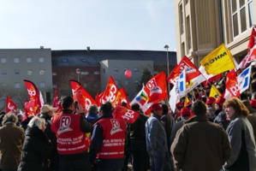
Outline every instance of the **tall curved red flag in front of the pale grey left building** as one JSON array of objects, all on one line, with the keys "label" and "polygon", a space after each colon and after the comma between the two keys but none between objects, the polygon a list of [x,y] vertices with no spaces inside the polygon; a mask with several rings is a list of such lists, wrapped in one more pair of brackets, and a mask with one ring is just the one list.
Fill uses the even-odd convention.
[{"label": "tall curved red flag in front of the pale grey left building", "polygon": [[32,102],[31,104],[34,105],[33,111],[35,113],[39,113],[41,108],[39,89],[33,84],[32,81],[24,80],[24,83],[27,87],[29,100]]}]

